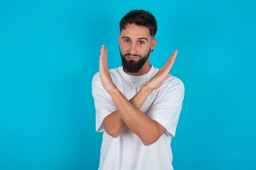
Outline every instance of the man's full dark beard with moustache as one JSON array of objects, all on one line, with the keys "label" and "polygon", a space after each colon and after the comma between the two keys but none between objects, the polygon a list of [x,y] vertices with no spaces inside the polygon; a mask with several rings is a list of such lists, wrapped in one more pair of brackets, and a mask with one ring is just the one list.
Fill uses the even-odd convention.
[{"label": "man's full dark beard with moustache", "polygon": [[[150,54],[150,50],[149,50],[148,54],[146,54],[144,57],[138,54],[131,55],[131,53],[126,53],[125,55],[123,55],[121,53],[120,47],[119,47],[119,51],[122,59],[122,66],[125,69],[125,71],[127,71],[128,73],[138,73],[142,69],[143,65],[147,61]],[[140,57],[140,59],[138,61],[126,60],[125,59],[126,56],[136,56],[136,57]]]}]

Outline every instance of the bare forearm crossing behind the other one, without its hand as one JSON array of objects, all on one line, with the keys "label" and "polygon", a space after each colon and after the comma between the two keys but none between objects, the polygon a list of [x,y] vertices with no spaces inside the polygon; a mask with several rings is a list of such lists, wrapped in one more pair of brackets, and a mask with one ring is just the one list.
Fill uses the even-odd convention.
[{"label": "bare forearm crossing behind the other one, without its hand", "polygon": [[[145,91],[147,93],[147,91]],[[133,98],[131,98],[128,102],[131,103],[134,107],[136,107],[138,110],[141,109],[144,102],[146,101],[149,94],[144,93],[137,93]],[[105,117],[105,119],[102,122],[106,132],[111,135],[112,137],[117,137],[122,132],[127,125],[122,119],[122,116],[120,115],[119,111],[116,110]]]}]

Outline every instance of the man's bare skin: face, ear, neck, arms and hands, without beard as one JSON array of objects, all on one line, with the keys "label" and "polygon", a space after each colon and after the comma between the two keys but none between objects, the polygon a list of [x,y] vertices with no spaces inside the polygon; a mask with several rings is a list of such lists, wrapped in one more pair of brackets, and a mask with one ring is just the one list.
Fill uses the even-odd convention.
[{"label": "man's bare skin: face, ear, neck, arms and hands, without beard", "polygon": [[[125,38],[124,38],[125,37]],[[146,38],[140,39],[140,38]],[[142,26],[136,26],[134,24],[128,25],[125,30],[121,32],[118,37],[120,51],[122,54],[131,53],[145,56],[148,51],[153,49],[157,40],[152,40],[150,37],[148,28]],[[169,71],[175,62],[177,56],[177,50],[175,50],[166,64],[152,77],[152,79],[143,86],[143,88],[131,99],[126,99],[125,96],[119,91],[116,85],[113,83],[111,74],[108,68],[108,50],[105,46],[101,47],[101,54],[99,58],[99,74],[102,81],[102,85],[106,91],[111,95],[113,102],[117,107],[117,111],[114,111],[110,115],[106,116],[102,124],[106,132],[112,137],[117,137],[125,127],[129,127],[146,146],[156,142],[160,136],[165,132],[165,127],[160,123],[152,120],[140,111],[145,100],[148,98],[155,89],[160,88],[163,82],[169,78]],[[127,57],[127,59],[130,59]],[[133,58],[137,60],[139,58]],[[143,68],[138,73],[127,74],[139,76],[146,74],[151,68],[149,59],[143,65]]]}]

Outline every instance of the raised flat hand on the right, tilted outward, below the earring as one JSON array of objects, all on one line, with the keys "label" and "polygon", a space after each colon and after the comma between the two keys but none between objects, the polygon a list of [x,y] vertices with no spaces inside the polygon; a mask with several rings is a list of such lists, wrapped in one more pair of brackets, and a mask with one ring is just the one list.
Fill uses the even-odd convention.
[{"label": "raised flat hand on the right, tilted outward, below the earring", "polygon": [[178,51],[175,50],[167,60],[166,64],[163,65],[163,67],[160,68],[160,70],[157,71],[154,77],[152,77],[152,79],[146,84],[148,88],[151,88],[152,90],[160,88],[161,85],[163,85],[163,82],[170,77],[169,71],[172,68],[177,53]]}]

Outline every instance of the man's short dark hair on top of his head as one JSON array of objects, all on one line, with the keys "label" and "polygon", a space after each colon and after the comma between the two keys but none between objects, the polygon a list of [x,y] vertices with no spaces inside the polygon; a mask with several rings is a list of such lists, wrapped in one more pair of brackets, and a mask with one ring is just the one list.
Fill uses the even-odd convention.
[{"label": "man's short dark hair on top of his head", "polygon": [[150,36],[154,37],[157,34],[157,21],[155,17],[148,11],[134,9],[122,18],[119,23],[120,32],[125,29],[127,24],[134,23],[137,26],[145,26],[150,31]]}]

